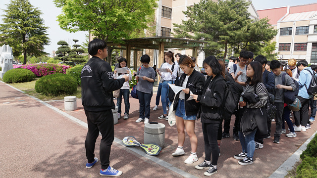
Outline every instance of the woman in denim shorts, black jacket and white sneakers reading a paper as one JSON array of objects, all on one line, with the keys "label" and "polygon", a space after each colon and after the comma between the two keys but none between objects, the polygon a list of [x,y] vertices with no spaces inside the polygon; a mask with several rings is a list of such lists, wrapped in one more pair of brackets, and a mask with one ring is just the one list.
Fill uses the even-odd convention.
[{"label": "woman in denim shorts, black jacket and white sneakers reading a paper", "polygon": [[176,94],[173,102],[173,109],[176,110],[175,115],[178,132],[178,147],[172,156],[175,157],[185,154],[183,145],[185,141],[186,128],[191,144],[191,154],[184,163],[192,164],[195,161],[198,161],[198,157],[196,155],[197,137],[195,134],[195,121],[200,103],[196,102],[194,99],[187,99],[190,97],[190,92],[193,94],[201,94],[204,88],[205,78],[200,74],[200,72],[194,69],[195,64],[187,55],[182,55],[178,64],[184,73],[180,76],[180,79],[175,85],[185,89]]}]

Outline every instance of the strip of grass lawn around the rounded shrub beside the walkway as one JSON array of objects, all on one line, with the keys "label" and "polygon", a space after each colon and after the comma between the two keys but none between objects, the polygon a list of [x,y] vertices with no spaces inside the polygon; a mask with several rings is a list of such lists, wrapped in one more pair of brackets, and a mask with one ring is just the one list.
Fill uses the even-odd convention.
[{"label": "strip of grass lawn around the rounded shrub beside the walkway", "polygon": [[[67,95],[51,96],[51,95],[44,95],[44,94],[36,92],[34,89],[34,86],[35,86],[35,82],[39,79],[40,78],[36,78],[35,80],[33,80],[31,82],[9,84],[9,85],[12,87],[15,87],[17,89],[20,89],[20,90],[26,92],[27,94],[34,96],[34,97],[37,97],[43,101],[64,99],[64,97],[67,96]],[[77,98],[81,98],[81,87],[77,87],[77,91],[72,95],[76,96]]]}]

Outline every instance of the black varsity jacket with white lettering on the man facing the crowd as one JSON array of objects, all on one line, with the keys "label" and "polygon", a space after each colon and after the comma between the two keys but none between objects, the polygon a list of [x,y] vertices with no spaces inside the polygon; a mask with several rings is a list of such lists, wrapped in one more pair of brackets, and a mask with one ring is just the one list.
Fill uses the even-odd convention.
[{"label": "black varsity jacket with white lettering on the man facing the crowd", "polygon": [[81,97],[85,110],[115,109],[112,91],[120,89],[125,80],[113,79],[112,69],[106,61],[92,57],[81,71]]}]

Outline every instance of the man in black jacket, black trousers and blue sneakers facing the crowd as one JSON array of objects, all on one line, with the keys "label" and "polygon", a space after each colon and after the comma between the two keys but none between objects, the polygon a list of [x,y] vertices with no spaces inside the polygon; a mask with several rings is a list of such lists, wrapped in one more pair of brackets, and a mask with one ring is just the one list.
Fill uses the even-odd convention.
[{"label": "man in black jacket, black trousers and blue sneakers facing the crowd", "polygon": [[88,133],[85,140],[86,168],[92,168],[97,162],[95,158],[95,143],[102,134],[100,142],[101,176],[120,176],[109,166],[111,145],[114,139],[113,115],[115,109],[112,91],[120,89],[128,81],[128,76],[113,79],[110,65],[103,59],[107,57],[107,46],[104,40],[95,39],[88,45],[88,52],[93,57],[89,59],[81,71],[82,104],[87,116]]}]

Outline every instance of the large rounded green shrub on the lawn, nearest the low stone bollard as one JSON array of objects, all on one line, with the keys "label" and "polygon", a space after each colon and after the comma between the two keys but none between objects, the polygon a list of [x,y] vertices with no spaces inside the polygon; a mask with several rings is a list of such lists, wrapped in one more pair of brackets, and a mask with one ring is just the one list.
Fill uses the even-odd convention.
[{"label": "large rounded green shrub on the lawn, nearest the low stone bollard", "polygon": [[77,81],[67,74],[47,75],[36,81],[35,90],[38,93],[53,96],[73,94],[77,91]]}]

